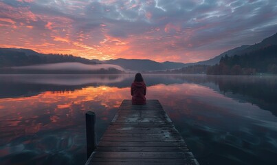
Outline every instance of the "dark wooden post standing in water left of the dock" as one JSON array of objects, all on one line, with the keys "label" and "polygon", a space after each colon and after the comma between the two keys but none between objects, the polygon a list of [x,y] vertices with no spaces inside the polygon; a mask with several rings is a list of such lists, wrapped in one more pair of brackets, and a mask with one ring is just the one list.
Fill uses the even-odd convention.
[{"label": "dark wooden post standing in water left of the dock", "polygon": [[96,113],[87,111],[86,113],[86,130],[87,130],[87,159],[97,147],[96,142]]}]

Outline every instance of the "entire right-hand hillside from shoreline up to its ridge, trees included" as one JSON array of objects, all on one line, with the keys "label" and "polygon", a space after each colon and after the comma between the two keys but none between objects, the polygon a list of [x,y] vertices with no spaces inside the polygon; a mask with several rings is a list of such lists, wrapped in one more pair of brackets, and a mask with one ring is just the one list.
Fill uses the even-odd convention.
[{"label": "entire right-hand hillside from shoreline up to its ridge, trees included", "polygon": [[277,74],[277,33],[261,43],[221,54],[219,63],[208,67],[207,74],[219,75],[253,75]]}]

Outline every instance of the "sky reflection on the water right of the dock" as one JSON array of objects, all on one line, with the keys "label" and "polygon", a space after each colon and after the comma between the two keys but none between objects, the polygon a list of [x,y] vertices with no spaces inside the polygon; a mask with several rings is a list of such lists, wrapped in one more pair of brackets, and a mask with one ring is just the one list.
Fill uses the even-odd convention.
[{"label": "sky reflection on the water right of the dock", "polygon": [[199,85],[167,89],[155,93],[201,164],[276,164],[274,115]]}]

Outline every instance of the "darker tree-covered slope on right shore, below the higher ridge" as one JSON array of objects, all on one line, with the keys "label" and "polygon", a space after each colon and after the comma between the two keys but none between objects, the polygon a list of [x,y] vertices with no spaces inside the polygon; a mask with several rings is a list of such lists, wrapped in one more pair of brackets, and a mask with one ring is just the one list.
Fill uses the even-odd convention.
[{"label": "darker tree-covered slope on right shore, below the higher ridge", "polygon": [[269,45],[241,56],[221,57],[219,64],[208,67],[207,74],[277,74],[277,45]]}]

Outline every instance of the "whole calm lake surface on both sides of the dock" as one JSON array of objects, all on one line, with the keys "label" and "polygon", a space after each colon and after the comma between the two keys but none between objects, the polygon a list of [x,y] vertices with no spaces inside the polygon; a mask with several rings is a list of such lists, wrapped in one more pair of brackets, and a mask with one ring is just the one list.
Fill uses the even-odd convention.
[{"label": "whole calm lake surface on both sides of the dock", "polygon": [[[277,164],[277,76],[144,75],[200,164]],[[0,75],[0,164],[85,164],[133,75]]]}]

